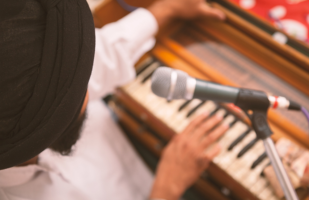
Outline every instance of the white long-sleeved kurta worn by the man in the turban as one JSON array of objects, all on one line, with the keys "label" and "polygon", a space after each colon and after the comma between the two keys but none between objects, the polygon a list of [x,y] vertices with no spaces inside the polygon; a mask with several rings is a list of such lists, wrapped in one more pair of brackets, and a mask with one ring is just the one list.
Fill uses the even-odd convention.
[{"label": "white long-sleeved kurta worn by the man in the turban", "polygon": [[46,149],[37,165],[1,170],[1,200],[147,199],[153,175],[101,98],[135,77],[133,65],[154,46],[157,30],[154,16],[142,8],[96,29],[87,119],[74,154]]}]

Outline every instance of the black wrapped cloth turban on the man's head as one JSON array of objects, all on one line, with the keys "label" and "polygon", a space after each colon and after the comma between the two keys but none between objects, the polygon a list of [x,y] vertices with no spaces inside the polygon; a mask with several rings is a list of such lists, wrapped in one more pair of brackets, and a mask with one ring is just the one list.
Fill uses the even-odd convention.
[{"label": "black wrapped cloth turban on the man's head", "polygon": [[86,0],[1,0],[0,169],[46,149],[76,119],[95,30]]}]

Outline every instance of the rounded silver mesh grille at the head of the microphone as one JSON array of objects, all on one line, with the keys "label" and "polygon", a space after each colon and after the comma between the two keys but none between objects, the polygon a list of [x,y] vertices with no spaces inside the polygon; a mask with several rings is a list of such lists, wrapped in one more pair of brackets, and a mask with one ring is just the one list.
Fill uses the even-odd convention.
[{"label": "rounded silver mesh grille at the head of the microphone", "polygon": [[158,67],[151,76],[151,90],[159,97],[167,98],[171,87],[171,74],[177,73],[175,89],[172,99],[185,98],[187,92],[188,74],[181,70],[175,70],[170,67]]}]

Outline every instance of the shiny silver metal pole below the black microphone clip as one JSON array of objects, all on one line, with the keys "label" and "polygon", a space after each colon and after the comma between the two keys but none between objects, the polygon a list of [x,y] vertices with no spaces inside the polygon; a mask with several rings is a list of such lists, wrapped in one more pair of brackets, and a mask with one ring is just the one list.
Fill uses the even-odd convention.
[{"label": "shiny silver metal pole below the black microphone clip", "polygon": [[263,139],[263,142],[264,142],[266,154],[268,158],[270,159],[270,162],[276,173],[276,176],[284,192],[286,200],[299,200],[295,192],[294,186],[292,185],[292,182],[288,174],[286,173],[286,169],[284,168],[282,161],[278,155],[278,152],[273,143],[273,140],[270,137],[268,137],[268,138]]}]

